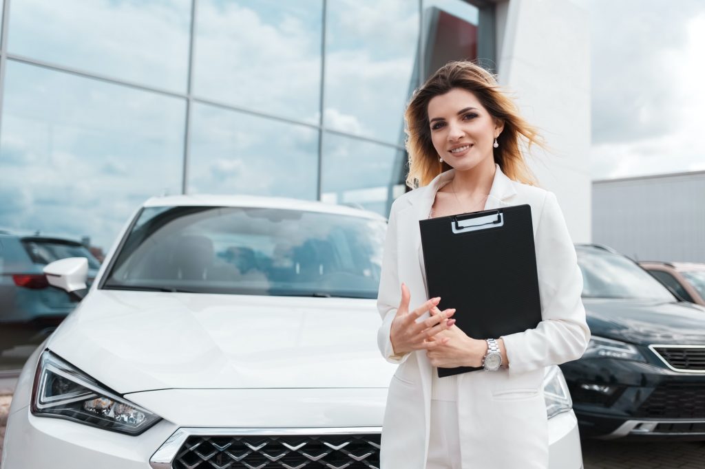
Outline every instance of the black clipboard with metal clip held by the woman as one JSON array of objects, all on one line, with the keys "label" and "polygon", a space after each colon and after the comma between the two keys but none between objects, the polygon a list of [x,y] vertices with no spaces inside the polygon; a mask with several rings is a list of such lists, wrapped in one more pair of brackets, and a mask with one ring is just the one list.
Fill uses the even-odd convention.
[{"label": "black clipboard with metal clip held by the woman", "polygon": [[[541,321],[539,276],[529,205],[419,221],[428,297],[455,308],[455,325],[473,339],[497,339]],[[439,368],[439,377],[482,368]]]}]

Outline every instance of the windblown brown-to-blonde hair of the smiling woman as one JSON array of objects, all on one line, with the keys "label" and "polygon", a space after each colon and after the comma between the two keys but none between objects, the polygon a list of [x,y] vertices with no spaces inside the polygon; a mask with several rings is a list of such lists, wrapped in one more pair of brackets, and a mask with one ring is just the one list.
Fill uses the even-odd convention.
[{"label": "windblown brown-to-blonde hair of the smiling woman", "polygon": [[501,90],[494,75],[467,61],[443,65],[412,95],[404,113],[409,154],[406,184],[412,188],[428,185],[434,177],[450,169],[445,161],[439,162],[439,154],[431,142],[428,108],[434,96],[446,94],[453,88],[474,94],[494,119],[504,123],[504,130],[497,137],[499,147],[494,149],[494,161],[502,172],[512,180],[536,185],[521,147],[524,144],[528,149],[537,144],[545,148],[539,133],[519,115],[514,101]]}]

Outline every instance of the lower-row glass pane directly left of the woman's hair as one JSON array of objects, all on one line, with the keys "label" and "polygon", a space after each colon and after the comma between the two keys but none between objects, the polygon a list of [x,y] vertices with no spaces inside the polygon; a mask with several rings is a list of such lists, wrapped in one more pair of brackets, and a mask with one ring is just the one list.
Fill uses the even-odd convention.
[{"label": "lower-row glass pane directly left of the woman's hair", "polygon": [[321,199],[353,204],[387,216],[404,193],[405,151],[364,140],[324,133]]}]

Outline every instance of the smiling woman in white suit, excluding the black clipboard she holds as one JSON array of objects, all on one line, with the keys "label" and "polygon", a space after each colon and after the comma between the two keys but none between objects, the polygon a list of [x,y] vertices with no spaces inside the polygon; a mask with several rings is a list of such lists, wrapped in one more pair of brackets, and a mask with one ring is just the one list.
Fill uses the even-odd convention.
[{"label": "smiling woman in white suit, excluding the black clipboard she holds", "polygon": [[[429,78],[405,120],[407,184],[419,188],[394,202],[384,247],[378,342],[398,368],[384,416],[382,469],[546,468],[544,368],[580,358],[590,332],[556,196],[532,186],[520,151],[537,134],[493,75],[470,62],[448,63]],[[467,337],[453,325],[453,309],[439,311],[439,299],[426,297],[419,220],[521,204],[532,209],[541,323],[504,337]],[[436,373],[483,366],[488,350],[485,370]]]}]

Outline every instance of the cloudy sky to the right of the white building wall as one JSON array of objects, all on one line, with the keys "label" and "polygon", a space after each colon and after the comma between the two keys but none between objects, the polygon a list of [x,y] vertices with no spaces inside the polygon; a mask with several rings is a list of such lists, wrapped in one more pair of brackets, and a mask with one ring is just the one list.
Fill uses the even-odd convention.
[{"label": "cloudy sky to the right of the white building wall", "polygon": [[586,0],[594,179],[705,170],[705,2]]}]

